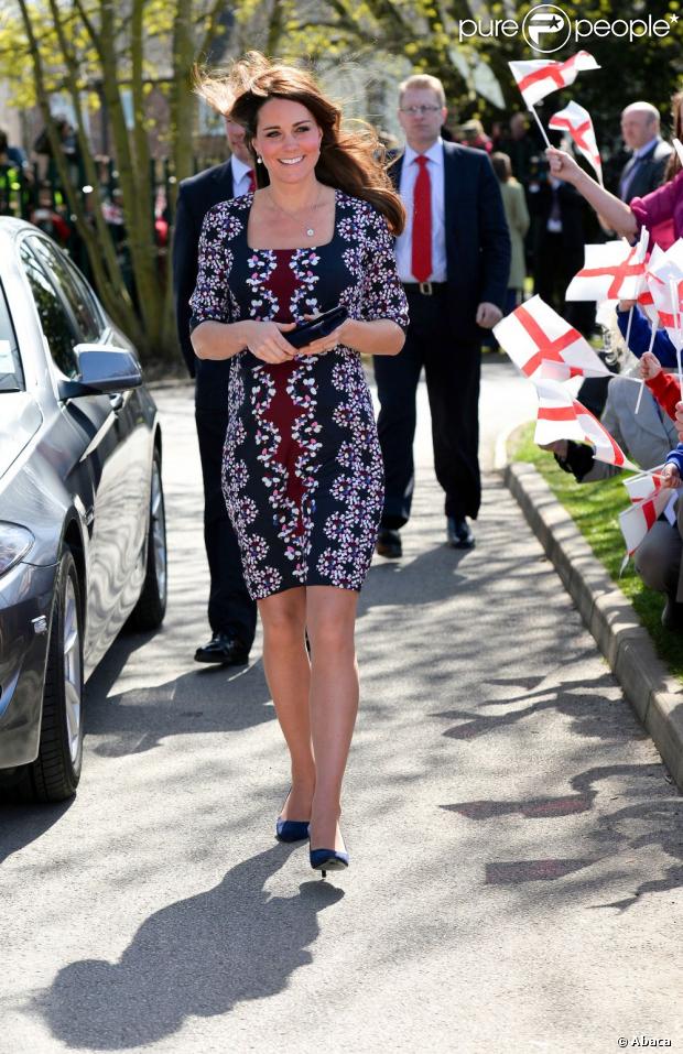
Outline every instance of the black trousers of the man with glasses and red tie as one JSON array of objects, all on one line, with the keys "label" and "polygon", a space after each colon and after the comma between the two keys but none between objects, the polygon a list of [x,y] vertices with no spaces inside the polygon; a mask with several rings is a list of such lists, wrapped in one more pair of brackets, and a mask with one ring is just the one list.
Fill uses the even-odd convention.
[{"label": "black trousers of the man with glasses and red tie", "polygon": [[415,395],[424,368],[436,478],[445,491],[445,513],[476,519],[479,475],[480,341],[454,333],[448,296],[409,293],[410,326],[398,356],[376,356],[380,402],[377,422],[384,459],[382,526],[398,529],[410,518],[414,488]]}]

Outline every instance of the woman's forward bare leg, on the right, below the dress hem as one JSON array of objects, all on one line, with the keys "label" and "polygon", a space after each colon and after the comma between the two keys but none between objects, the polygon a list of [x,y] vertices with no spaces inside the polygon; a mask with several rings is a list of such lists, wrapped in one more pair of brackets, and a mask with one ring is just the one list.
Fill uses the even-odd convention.
[{"label": "woman's forward bare leg, on the right, below the dress hem", "polygon": [[358,666],[354,644],[358,594],[308,586],[306,624],[311,639],[311,734],[315,795],[311,848],[344,849],[337,821],[342,781],[358,713]]}]

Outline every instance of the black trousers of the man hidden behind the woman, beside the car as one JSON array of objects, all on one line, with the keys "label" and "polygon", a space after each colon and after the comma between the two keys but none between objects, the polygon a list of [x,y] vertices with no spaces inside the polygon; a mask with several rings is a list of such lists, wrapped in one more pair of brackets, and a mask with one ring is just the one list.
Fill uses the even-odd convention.
[{"label": "black trousers of the man hidden behind the woman, beside the car", "polygon": [[195,410],[202,476],[204,478],[204,544],[210,589],[208,621],[214,633],[238,637],[251,648],[257,606],[247,593],[239,546],[223,497],[223,446],[228,414],[223,410]]}]

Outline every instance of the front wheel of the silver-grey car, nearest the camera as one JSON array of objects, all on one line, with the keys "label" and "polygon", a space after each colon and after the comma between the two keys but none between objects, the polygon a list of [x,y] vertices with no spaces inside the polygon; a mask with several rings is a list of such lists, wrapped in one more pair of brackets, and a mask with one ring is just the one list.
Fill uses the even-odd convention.
[{"label": "front wheel of the silver-grey car, nearest the camera", "polygon": [[24,767],[24,797],[62,802],[76,793],[83,763],[83,608],[74,557],[57,568],[39,754]]}]

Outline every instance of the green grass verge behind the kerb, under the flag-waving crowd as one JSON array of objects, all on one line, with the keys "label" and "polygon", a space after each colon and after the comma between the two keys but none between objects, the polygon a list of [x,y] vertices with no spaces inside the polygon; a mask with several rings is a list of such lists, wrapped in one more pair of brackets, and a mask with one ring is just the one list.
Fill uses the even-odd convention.
[{"label": "green grass verge behind the kerb, under the flag-waving crowd", "polygon": [[512,434],[508,447],[510,460],[529,461],[538,468],[597,558],[633,605],[661,659],[683,682],[683,638],[662,627],[660,619],[664,604],[661,594],[642,584],[632,561],[619,577],[625,550],[617,517],[629,504],[621,478],[615,476],[595,483],[577,483],[573,476],[557,467],[552,454],[539,449],[533,442],[534,426],[534,423],[522,425]]}]

